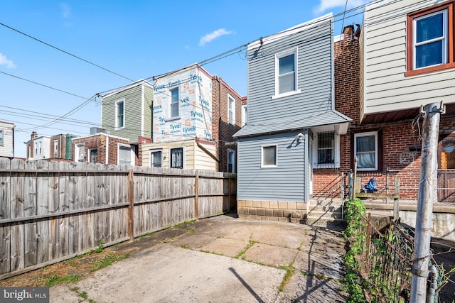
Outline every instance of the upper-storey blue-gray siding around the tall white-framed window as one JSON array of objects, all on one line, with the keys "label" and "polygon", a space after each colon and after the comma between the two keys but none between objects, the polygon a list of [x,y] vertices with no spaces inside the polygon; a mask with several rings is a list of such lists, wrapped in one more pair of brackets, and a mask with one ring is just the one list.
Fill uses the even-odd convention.
[{"label": "upper-storey blue-gray siding around the tall white-framed window", "polygon": [[[298,121],[309,112],[332,106],[333,24],[331,19],[301,33],[264,43],[248,52],[248,124]],[[297,47],[300,94],[272,99],[275,55]]]}]

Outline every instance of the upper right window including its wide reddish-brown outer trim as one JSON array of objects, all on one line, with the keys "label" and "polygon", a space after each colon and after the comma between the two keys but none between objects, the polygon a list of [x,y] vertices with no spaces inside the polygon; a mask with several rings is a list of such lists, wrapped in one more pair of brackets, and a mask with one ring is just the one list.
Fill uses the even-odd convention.
[{"label": "upper right window including its wide reddish-brown outer trim", "polygon": [[446,1],[407,16],[406,75],[455,67],[454,3]]}]

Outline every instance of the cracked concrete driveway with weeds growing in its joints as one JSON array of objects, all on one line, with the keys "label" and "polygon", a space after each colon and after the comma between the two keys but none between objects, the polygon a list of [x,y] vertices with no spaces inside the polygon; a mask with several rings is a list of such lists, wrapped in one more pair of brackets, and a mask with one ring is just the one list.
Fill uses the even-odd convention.
[{"label": "cracked concrete driveway with weeds growing in its joints", "polygon": [[223,215],[140,241],[50,302],[346,302],[339,231]]}]

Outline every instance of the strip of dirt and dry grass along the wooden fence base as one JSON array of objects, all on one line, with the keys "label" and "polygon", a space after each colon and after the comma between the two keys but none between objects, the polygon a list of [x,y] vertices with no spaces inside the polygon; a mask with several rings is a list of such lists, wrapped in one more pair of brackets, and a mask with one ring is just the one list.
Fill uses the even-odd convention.
[{"label": "strip of dirt and dry grass along the wooden fence base", "polygon": [[[198,226],[204,226],[203,221],[192,221],[181,224],[163,231],[149,233],[134,241],[127,241],[103,248],[99,253],[95,252],[78,255],[75,258],[60,263],[48,265],[38,270],[25,272],[5,280],[0,280],[1,287],[39,287],[48,286],[58,278],[77,276],[80,280],[92,275],[100,263],[104,260],[115,260],[115,257],[129,258],[141,250],[151,248],[159,243],[174,241],[186,233],[193,232]],[[47,284],[46,284],[47,283]]]}]

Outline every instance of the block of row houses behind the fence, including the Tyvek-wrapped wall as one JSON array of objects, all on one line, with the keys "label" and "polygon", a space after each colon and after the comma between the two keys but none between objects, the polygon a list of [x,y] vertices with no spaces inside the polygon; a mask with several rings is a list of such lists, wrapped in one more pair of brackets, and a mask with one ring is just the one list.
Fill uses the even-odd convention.
[{"label": "block of row houses behind the fence, including the Tyvek-wrapped wall", "polygon": [[[109,164],[131,158],[139,166],[235,172],[232,134],[245,123],[245,104],[223,79],[193,64],[102,95],[102,130],[73,143],[86,162],[96,150],[97,161]],[[109,136],[118,141],[109,141],[112,160],[97,147]]]}]

